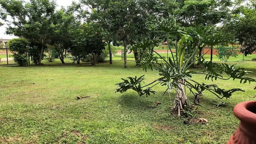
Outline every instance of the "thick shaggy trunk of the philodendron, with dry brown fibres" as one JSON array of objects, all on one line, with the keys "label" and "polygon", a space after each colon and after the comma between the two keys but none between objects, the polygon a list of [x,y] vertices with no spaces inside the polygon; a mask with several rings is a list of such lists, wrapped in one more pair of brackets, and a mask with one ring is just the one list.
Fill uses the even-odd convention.
[{"label": "thick shaggy trunk of the philodendron, with dry brown fibres", "polygon": [[180,83],[185,83],[185,80],[180,79],[178,83],[178,88],[177,88],[177,95],[174,100],[174,107],[173,111],[178,114],[180,117],[180,111],[184,110],[185,105],[188,105],[188,98],[186,95],[186,88],[184,85]]}]

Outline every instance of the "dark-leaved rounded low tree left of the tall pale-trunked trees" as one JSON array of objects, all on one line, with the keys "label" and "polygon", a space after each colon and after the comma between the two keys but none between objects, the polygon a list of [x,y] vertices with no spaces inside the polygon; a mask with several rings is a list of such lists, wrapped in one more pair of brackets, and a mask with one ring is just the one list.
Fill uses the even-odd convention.
[{"label": "dark-leaved rounded low tree left of the tall pale-trunked trees", "polygon": [[71,33],[74,40],[70,50],[76,57],[77,63],[88,56],[91,59],[91,65],[95,65],[96,55],[101,54],[106,45],[103,40],[103,30],[93,23],[84,23]]}]

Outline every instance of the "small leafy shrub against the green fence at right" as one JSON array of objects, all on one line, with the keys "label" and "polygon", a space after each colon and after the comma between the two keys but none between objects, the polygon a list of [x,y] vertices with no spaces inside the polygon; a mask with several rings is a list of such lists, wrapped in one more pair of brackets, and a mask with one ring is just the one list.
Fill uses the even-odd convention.
[{"label": "small leafy shrub against the green fence at right", "polygon": [[238,56],[239,53],[239,49],[236,48],[217,48],[216,52],[218,54],[216,54],[216,56],[219,59],[224,58],[225,62],[227,62],[227,60],[229,59],[229,57],[234,57],[236,58]]}]

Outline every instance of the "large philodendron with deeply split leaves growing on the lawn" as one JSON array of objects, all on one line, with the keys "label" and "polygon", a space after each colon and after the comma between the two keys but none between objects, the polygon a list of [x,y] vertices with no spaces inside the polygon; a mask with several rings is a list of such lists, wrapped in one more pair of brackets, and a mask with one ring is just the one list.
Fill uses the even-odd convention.
[{"label": "large philodendron with deeply split leaves growing on the lawn", "polygon": [[[204,83],[200,83],[195,79],[192,79],[192,76],[195,74],[205,75],[206,80],[210,79],[212,81],[217,79],[239,79],[240,83],[250,83],[256,81],[252,78],[244,77],[244,75],[247,75],[251,72],[245,71],[243,68],[235,68],[234,65],[213,63],[211,61],[200,61],[199,59],[201,59],[204,55],[198,57],[196,60],[193,60],[191,62],[192,57],[196,54],[196,50],[193,52],[193,54],[191,54],[190,58],[185,58],[184,54],[187,45],[193,42],[192,38],[190,35],[187,35],[183,31],[184,28],[181,28],[179,24],[175,22],[175,18],[172,17],[170,19],[155,19],[153,22],[155,23],[156,27],[159,27],[160,29],[162,29],[163,33],[165,33],[167,41],[169,41],[170,37],[180,37],[179,42],[177,42],[176,40],[176,51],[172,52],[169,45],[171,57],[165,59],[159,53],[157,53],[154,48],[152,48],[152,45],[153,47],[154,45],[157,45],[156,40],[144,39],[142,42],[134,44],[133,47],[143,49],[144,53],[141,54],[140,61],[140,65],[143,66],[143,69],[145,71],[147,71],[147,68],[151,70],[157,70],[159,72],[160,78],[154,80],[148,85],[143,86],[143,76],[140,76],[138,78],[128,77],[128,80],[122,79],[123,82],[116,84],[116,92],[123,93],[128,89],[132,89],[135,90],[139,96],[148,96],[151,93],[155,93],[155,91],[152,90],[152,87],[154,87],[155,85],[160,84],[162,86],[167,86],[166,91],[171,92],[174,90],[177,93],[172,110],[180,116],[180,113],[182,113],[182,111],[192,110],[191,105],[198,104],[198,96],[202,95],[202,92],[204,90],[211,92],[213,95],[216,95],[220,99],[229,98],[232,93],[236,91],[243,91],[242,89],[238,88],[224,90],[219,88],[217,85],[207,85]],[[225,37],[227,37],[227,35],[225,35]],[[200,34],[198,34],[198,39],[200,41],[205,41],[203,38],[205,37],[202,37]],[[223,39],[231,40],[230,37],[223,38],[221,35],[219,36],[219,39],[222,39],[222,42]],[[230,41],[226,41],[226,43],[229,42]],[[161,59],[164,62],[159,63],[158,59]],[[205,70],[190,71],[189,68],[198,61],[205,67]],[[222,77],[223,74],[227,74],[228,77]],[[191,103],[189,103],[187,98],[188,92],[192,93],[195,96],[194,101]]]}]

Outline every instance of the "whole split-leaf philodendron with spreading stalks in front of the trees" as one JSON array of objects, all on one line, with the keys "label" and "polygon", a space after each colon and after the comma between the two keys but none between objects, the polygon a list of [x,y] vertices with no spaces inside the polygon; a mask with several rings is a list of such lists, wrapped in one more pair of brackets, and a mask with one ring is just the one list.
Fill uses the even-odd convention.
[{"label": "whole split-leaf philodendron with spreading stalks in front of the trees", "polygon": [[[172,22],[167,23],[167,22]],[[154,20],[153,20],[154,22]],[[201,62],[199,61],[199,58],[196,60],[192,60],[192,62],[189,64],[189,61],[193,58],[193,56],[196,54],[196,49],[194,50],[193,54],[189,58],[185,57],[185,49],[188,47],[188,45],[193,42],[193,39],[191,36],[186,35],[185,32],[183,32],[183,28],[179,27],[178,23],[175,23],[175,19],[171,18],[170,20],[166,19],[156,19],[155,20],[156,25],[159,25],[159,27],[162,29],[163,32],[166,33],[166,39],[168,41],[169,36],[168,34],[172,34],[171,36],[181,36],[179,40],[179,43],[176,44],[176,51],[175,54],[171,52],[172,57],[169,57],[168,59],[163,58],[160,54],[158,54],[154,49],[151,49],[151,45],[156,44],[156,42],[152,42],[151,40],[143,40],[141,43],[136,44],[136,48],[140,47],[142,49],[148,49],[147,52],[148,54],[144,54],[142,56],[145,56],[141,60],[141,65],[144,67],[144,70],[149,67],[150,69],[155,68],[159,72],[159,75],[162,76],[161,78],[153,81],[149,85],[157,85],[161,83],[163,86],[167,86],[167,90],[171,92],[172,90],[177,91],[177,96],[174,101],[174,108],[173,110],[177,113],[180,114],[180,109],[185,110],[185,107],[189,106],[188,99],[186,97],[186,90],[188,89],[195,97],[196,95],[201,95],[202,91],[207,90],[211,92],[212,94],[216,95],[219,98],[229,98],[232,93],[236,91],[243,91],[241,89],[231,89],[231,90],[224,90],[217,85],[206,85],[206,84],[200,84],[196,80],[192,79],[192,75],[194,74],[202,74],[206,75],[206,79],[209,80],[209,78],[212,78],[217,80],[217,79],[222,79],[222,80],[228,80],[228,79],[239,79],[240,83],[247,83],[247,82],[256,82],[256,80],[248,77],[244,77],[245,75],[251,73],[249,71],[245,71],[242,68],[235,68],[234,65],[228,65],[228,64],[219,64],[219,63],[213,63],[213,62]],[[202,29],[197,29],[197,35],[199,36],[198,39],[199,41],[202,40],[205,44],[207,45],[217,45],[217,44],[227,44],[228,42],[233,42],[234,39],[232,36],[229,34],[223,34],[221,32],[212,30],[211,28],[207,28],[207,32],[202,32]],[[205,30],[203,30],[205,31]],[[169,45],[170,46],[170,45]],[[170,47],[169,47],[170,48]],[[152,51],[156,54],[152,54]],[[207,52],[206,52],[207,53]],[[157,57],[160,59],[164,60],[165,63],[158,64],[157,63]],[[197,71],[187,71],[191,65],[193,65],[196,62],[201,62],[203,63],[204,67],[206,68],[205,71],[203,72],[197,72]],[[227,74],[229,77],[227,79],[222,77],[222,74]],[[137,80],[136,78],[129,78],[130,82],[128,80],[124,80],[124,82],[117,84],[118,87],[117,92],[125,92],[128,89],[133,89],[138,92],[138,94],[141,96],[143,93],[143,87],[141,87],[141,82],[144,80],[143,77],[139,78],[139,85],[136,87],[134,86]],[[192,83],[195,83],[193,85]],[[148,86],[148,85],[146,85]],[[152,86],[152,87],[153,87]],[[145,87],[145,86],[144,86]],[[150,87],[150,90],[151,88]],[[166,90],[166,91],[167,91]],[[193,90],[196,90],[194,92]],[[189,106],[190,107],[190,106]]]}]

